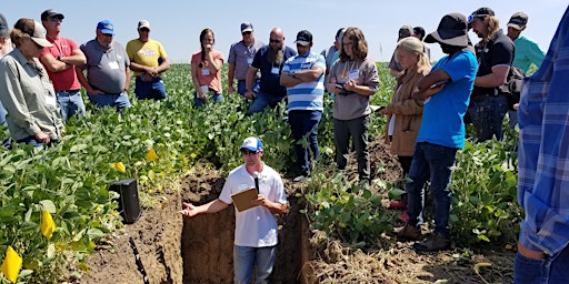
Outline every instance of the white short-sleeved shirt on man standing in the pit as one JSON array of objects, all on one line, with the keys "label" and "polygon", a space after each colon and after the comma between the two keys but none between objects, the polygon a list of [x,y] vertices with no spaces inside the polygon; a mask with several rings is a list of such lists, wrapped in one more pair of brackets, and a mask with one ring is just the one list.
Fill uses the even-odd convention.
[{"label": "white short-sleeved shirt on man standing in the pit", "polygon": [[[231,194],[254,187],[254,179],[251,176],[244,164],[234,169],[223,184],[219,200],[231,204]],[[287,203],[284,185],[272,168],[263,164],[259,178],[259,193],[264,194],[267,200],[278,203]],[[234,244],[239,246],[264,247],[278,243],[278,225],[274,215],[264,206],[238,212],[236,209],[236,239]]]}]

